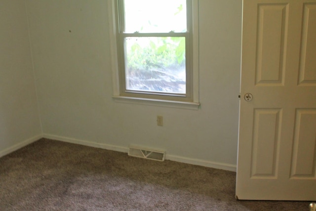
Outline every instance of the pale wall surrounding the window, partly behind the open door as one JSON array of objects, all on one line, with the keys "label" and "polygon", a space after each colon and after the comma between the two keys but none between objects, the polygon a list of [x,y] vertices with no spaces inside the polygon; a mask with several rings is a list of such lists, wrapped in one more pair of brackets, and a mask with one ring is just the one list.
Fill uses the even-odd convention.
[{"label": "pale wall surrounding the window, partly behind the open door", "polygon": [[241,0],[200,0],[197,111],[114,102],[107,1],[26,2],[46,137],[235,169]]}]

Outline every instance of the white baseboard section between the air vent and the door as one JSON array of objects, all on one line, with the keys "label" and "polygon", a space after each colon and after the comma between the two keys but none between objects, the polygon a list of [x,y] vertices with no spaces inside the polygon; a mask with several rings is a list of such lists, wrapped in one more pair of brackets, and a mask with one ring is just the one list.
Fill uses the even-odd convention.
[{"label": "white baseboard section between the air vent and the door", "polygon": [[192,165],[197,165],[197,166],[202,166],[202,167],[209,167],[209,168],[214,168],[214,169],[223,169],[223,170],[229,170],[229,171],[234,171],[234,172],[237,171],[237,165],[217,163],[217,162],[186,158],[186,157],[175,156],[175,155],[166,154],[165,160],[176,161],[176,162],[185,163],[185,164],[192,164]]}]

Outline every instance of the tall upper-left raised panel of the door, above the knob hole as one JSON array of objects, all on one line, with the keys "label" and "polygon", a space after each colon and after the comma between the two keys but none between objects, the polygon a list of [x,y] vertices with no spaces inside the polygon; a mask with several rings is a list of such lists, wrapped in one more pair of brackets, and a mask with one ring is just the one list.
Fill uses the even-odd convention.
[{"label": "tall upper-left raised panel of the door, above the knob hole", "polygon": [[284,84],[288,4],[259,4],[256,84]]}]

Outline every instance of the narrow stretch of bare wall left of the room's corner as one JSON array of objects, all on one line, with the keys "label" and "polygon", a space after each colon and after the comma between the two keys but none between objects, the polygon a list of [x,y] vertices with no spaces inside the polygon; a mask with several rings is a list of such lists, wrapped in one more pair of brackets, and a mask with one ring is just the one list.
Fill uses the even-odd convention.
[{"label": "narrow stretch of bare wall left of the room's corner", "polygon": [[25,2],[0,1],[0,157],[41,137]]}]

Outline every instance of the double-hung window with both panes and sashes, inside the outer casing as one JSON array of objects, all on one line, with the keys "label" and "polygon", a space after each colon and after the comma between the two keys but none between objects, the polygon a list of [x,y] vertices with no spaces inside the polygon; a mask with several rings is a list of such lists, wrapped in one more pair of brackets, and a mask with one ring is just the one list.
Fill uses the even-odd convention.
[{"label": "double-hung window with both panes and sashes, inside the outer casing", "polygon": [[196,102],[192,0],[115,5],[119,96]]}]

